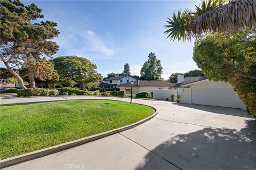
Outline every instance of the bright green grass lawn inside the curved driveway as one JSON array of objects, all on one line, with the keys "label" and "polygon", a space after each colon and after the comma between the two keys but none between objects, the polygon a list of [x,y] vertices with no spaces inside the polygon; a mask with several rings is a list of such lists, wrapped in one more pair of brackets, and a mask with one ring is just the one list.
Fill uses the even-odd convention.
[{"label": "bright green grass lawn inside the curved driveway", "polygon": [[0,107],[0,158],[5,159],[120,128],[155,111],[110,100],[54,101]]}]

